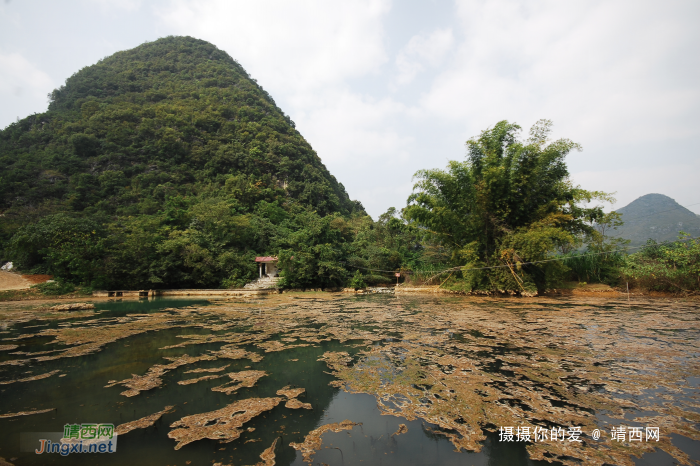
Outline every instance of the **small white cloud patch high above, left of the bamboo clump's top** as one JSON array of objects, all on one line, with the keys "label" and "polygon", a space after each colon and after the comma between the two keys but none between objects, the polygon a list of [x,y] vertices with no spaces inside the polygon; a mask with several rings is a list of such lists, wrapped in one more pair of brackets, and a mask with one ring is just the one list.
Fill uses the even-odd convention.
[{"label": "small white cloud patch high above, left of the bamboo clump's top", "polygon": [[439,65],[454,42],[452,29],[437,29],[429,35],[418,34],[408,41],[396,57],[398,84],[407,84],[425,69]]}]

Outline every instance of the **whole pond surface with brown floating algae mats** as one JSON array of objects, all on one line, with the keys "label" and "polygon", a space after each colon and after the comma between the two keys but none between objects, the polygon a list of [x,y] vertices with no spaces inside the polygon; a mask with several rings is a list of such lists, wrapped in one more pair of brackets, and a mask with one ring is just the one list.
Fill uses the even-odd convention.
[{"label": "whole pond surface with brown floating algae mats", "polygon": [[[23,310],[0,333],[12,347],[0,353],[0,456],[700,464],[698,311],[672,300],[330,294],[149,313],[98,304],[70,319]],[[20,451],[22,432],[87,422],[122,427],[118,452],[67,463]]]}]

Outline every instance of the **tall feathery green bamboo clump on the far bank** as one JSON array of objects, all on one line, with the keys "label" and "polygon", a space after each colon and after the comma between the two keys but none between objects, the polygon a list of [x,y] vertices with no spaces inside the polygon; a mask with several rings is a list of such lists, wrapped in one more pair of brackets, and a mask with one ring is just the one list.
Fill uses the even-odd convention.
[{"label": "tall feathery green bamboo clump on the far bank", "polygon": [[594,233],[609,195],[574,185],[564,161],[579,144],[550,141],[552,122],[538,121],[519,139],[501,121],[467,141],[467,160],[416,173],[404,217],[443,243],[463,266],[470,289],[542,291],[563,266],[542,261]]}]

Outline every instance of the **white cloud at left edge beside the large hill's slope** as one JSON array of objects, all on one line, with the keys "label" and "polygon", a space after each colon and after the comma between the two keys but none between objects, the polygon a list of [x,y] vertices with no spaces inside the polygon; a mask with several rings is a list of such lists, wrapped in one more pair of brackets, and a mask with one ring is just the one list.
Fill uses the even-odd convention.
[{"label": "white cloud at left edge beside the large hill's slope", "polygon": [[[24,56],[0,50],[0,101],[3,102],[0,121],[24,118],[37,108],[46,108],[46,95],[53,88],[49,75]],[[10,114],[11,112],[16,115]]]}]

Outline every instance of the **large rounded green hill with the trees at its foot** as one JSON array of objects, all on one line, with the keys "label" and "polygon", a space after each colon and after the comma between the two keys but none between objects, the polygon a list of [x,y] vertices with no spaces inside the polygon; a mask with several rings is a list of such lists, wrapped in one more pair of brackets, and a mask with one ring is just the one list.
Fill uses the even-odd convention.
[{"label": "large rounded green hill with the trees at its foot", "polygon": [[[115,53],[49,98],[0,131],[0,259],[23,270],[240,286],[256,254],[323,243],[344,234],[338,219],[365,215],[272,97],[205,41]],[[302,226],[316,229],[294,239]]]}]

